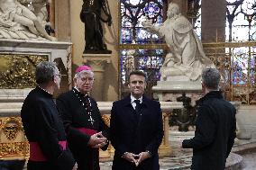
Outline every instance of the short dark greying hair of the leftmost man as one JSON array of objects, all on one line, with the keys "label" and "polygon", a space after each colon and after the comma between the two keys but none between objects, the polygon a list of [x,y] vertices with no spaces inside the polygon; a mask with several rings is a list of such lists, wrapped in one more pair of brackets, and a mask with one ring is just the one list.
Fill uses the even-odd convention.
[{"label": "short dark greying hair of the leftmost man", "polygon": [[57,74],[56,63],[50,61],[42,61],[36,66],[35,69],[35,80],[36,83],[46,84],[52,80],[52,77]]}]

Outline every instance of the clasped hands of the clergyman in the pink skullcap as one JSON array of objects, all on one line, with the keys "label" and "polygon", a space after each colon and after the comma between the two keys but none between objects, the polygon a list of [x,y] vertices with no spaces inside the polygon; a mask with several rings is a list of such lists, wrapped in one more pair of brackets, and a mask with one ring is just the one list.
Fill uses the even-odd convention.
[{"label": "clasped hands of the clergyman in the pink skullcap", "polygon": [[102,132],[98,132],[92,135],[88,141],[88,146],[91,148],[102,148],[107,144],[107,139],[102,135]]}]

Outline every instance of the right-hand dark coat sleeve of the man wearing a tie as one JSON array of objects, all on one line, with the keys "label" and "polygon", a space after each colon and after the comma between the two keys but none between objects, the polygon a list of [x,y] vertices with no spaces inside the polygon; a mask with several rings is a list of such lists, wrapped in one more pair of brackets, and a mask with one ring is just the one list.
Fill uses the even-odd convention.
[{"label": "right-hand dark coat sleeve of the man wearing a tie", "polygon": [[160,147],[161,140],[163,138],[163,122],[162,122],[162,112],[160,109],[160,103],[157,104],[157,126],[154,131],[154,138],[151,140],[150,144],[146,147],[146,150],[151,152],[151,155],[158,153],[158,148]]}]

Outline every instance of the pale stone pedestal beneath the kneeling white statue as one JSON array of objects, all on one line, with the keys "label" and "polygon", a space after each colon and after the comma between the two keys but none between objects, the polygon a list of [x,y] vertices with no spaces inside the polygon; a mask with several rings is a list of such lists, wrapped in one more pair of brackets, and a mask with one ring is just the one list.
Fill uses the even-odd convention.
[{"label": "pale stone pedestal beneath the kneeling white statue", "polygon": [[187,97],[191,98],[192,106],[202,96],[201,81],[189,81],[187,76],[173,76],[169,77],[167,81],[158,81],[152,90],[154,97],[159,101],[176,102],[177,98],[185,93]]}]

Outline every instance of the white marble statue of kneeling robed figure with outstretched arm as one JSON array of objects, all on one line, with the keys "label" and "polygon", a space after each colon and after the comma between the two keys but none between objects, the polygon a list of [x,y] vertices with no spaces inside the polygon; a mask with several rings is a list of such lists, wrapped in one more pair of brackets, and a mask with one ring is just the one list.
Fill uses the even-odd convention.
[{"label": "white marble statue of kneeling robed figure with outstretched arm", "polygon": [[170,49],[160,69],[161,79],[187,76],[189,80],[196,81],[204,67],[215,66],[206,57],[192,24],[181,15],[178,4],[169,4],[167,16],[167,20],[161,25],[152,25],[148,20],[142,22],[145,28],[163,36]]}]

